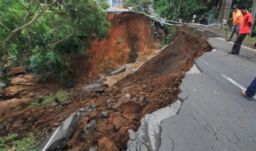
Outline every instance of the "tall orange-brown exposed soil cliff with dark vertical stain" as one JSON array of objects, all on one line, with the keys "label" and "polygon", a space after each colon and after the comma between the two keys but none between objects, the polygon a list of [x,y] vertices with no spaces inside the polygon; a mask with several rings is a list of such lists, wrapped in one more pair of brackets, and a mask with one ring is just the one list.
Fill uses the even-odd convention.
[{"label": "tall orange-brown exposed soil cliff with dark vertical stain", "polygon": [[74,59],[74,67],[82,76],[89,76],[90,79],[95,79],[102,72],[109,73],[124,63],[135,62],[139,55],[159,46],[145,15],[133,12],[108,13],[107,20],[112,26],[110,38],[102,42],[95,40],[91,49],[86,50],[87,54],[92,55],[89,66],[83,66],[88,64],[86,60]]}]

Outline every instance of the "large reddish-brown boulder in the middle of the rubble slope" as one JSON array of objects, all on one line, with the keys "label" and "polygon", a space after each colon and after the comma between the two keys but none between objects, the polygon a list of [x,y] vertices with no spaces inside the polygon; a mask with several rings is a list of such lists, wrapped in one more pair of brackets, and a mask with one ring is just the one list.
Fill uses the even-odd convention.
[{"label": "large reddish-brown boulder in the middle of the rubble slope", "polygon": [[141,107],[143,107],[142,103],[124,98],[113,106],[113,109],[123,114],[135,114],[140,111]]}]

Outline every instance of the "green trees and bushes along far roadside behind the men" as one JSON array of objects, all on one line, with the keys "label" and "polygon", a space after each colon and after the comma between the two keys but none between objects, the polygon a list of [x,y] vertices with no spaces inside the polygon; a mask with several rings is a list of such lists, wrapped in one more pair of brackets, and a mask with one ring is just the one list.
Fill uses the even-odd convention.
[{"label": "green trees and bushes along far roadside behind the men", "polygon": [[[130,5],[134,11],[142,11],[143,13],[152,13],[148,10],[150,8],[154,8],[154,15],[171,21],[179,21],[179,19],[182,19],[182,22],[192,22],[193,15],[196,15],[195,23],[199,23],[201,15],[205,14],[205,16],[209,18],[209,25],[221,26],[221,20],[224,18],[224,14],[221,14],[220,11],[221,9],[225,9],[225,7],[221,6],[226,2],[231,4],[229,18],[232,18],[233,4],[246,4],[249,11],[252,10],[252,0],[144,0],[141,2],[137,2],[136,0],[128,0],[126,3]],[[229,28],[232,28],[232,21],[228,22],[228,26]],[[256,28],[253,29],[252,34],[252,37],[255,36]]]}]

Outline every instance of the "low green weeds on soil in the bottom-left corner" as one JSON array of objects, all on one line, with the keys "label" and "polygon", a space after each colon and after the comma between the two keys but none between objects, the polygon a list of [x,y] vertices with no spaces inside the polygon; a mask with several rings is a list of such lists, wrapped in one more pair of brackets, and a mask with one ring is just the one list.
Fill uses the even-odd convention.
[{"label": "low green weeds on soil in the bottom-left corner", "polygon": [[33,133],[29,133],[28,137],[23,138],[23,140],[15,140],[16,136],[17,134],[14,133],[6,137],[0,137],[0,150],[9,150],[10,148],[15,151],[36,150],[39,142],[35,142]]}]

